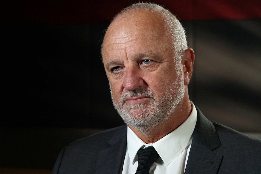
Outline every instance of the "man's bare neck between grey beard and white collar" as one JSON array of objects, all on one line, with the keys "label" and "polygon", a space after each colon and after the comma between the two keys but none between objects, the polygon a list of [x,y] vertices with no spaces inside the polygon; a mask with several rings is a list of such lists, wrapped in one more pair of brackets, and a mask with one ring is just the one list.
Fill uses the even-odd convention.
[{"label": "man's bare neck between grey beard and white collar", "polygon": [[180,126],[190,115],[192,110],[188,95],[180,101],[170,118],[159,125],[150,128],[148,133],[143,133],[128,125],[130,129],[145,143],[154,143]]}]

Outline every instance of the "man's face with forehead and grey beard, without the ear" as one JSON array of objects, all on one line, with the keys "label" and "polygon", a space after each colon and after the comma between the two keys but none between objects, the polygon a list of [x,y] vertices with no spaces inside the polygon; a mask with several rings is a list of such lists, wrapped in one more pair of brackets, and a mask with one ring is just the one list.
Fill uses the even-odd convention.
[{"label": "man's face with forehead and grey beard, without the ear", "polygon": [[132,11],[109,26],[103,61],[115,108],[125,123],[146,132],[167,120],[184,96],[182,65],[154,12]]}]

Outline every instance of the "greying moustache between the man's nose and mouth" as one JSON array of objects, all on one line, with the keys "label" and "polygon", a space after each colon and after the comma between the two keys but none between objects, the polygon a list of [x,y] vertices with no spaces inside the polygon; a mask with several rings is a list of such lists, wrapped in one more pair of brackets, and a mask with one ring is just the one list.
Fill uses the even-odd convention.
[{"label": "greying moustache between the man's nose and mouth", "polygon": [[121,103],[125,102],[126,98],[139,97],[139,96],[147,96],[154,100],[156,99],[155,94],[151,90],[137,88],[133,91],[126,90],[123,94],[121,94],[120,102]]}]

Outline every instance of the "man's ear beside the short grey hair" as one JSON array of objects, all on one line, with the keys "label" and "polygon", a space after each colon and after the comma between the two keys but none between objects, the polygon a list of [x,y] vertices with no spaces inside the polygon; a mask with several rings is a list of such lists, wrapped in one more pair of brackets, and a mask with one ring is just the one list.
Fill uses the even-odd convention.
[{"label": "man's ear beside the short grey hair", "polygon": [[184,85],[188,85],[190,83],[190,78],[192,76],[193,64],[194,64],[195,54],[191,48],[188,48],[181,60],[183,65],[183,74],[184,74]]}]

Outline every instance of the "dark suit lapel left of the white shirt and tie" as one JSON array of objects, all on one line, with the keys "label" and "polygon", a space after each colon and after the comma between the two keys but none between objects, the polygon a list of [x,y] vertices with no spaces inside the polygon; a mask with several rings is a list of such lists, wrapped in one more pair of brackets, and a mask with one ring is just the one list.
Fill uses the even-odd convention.
[{"label": "dark suit lapel left of the white shirt and tie", "polygon": [[124,130],[118,130],[108,141],[108,147],[101,150],[98,159],[95,174],[117,174],[120,173],[127,144],[127,126]]}]

